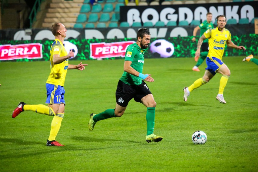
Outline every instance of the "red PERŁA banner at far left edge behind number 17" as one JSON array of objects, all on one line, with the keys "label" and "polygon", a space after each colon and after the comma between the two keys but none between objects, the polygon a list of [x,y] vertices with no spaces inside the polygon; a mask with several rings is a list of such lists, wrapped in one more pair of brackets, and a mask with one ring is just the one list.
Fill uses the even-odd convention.
[{"label": "red PER\u0141A banner at far left edge behind number 17", "polygon": [[42,44],[0,45],[0,60],[42,58]]}]

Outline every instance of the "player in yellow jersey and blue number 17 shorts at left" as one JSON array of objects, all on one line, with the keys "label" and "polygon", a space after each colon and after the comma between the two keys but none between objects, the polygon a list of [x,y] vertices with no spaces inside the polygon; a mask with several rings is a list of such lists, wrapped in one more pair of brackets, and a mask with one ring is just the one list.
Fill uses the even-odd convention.
[{"label": "player in yellow jersey and blue number 17 shorts at left", "polygon": [[55,141],[56,135],[61,127],[61,121],[65,114],[65,76],[67,69],[84,70],[87,64],[70,65],[68,59],[74,57],[74,52],[66,52],[63,45],[66,37],[66,28],[60,22],[55,22],[52,25],[51,31],[55,36],[55,41],[50,49],[50,74],[46,82],[47,100],[46,104],[29,105],[20,102],[18,107],[12,113],[12,118],[15,118],[23,111],[34,111],[39,114],[54,116],[51,123],[50,135],[47,140],[47,146],[64,146],[58,141]]}]

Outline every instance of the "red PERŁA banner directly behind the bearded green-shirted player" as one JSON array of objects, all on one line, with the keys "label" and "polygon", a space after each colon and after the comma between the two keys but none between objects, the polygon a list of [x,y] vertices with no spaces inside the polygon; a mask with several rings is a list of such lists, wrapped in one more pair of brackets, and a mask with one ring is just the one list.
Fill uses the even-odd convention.
[{"label": "red PER\u0141A banner directly behind the bearded green-shirted player", "polygon": [[113,43],[91,43],[91,58],[124,57],[126,48],[135,41],[123,41]]}]

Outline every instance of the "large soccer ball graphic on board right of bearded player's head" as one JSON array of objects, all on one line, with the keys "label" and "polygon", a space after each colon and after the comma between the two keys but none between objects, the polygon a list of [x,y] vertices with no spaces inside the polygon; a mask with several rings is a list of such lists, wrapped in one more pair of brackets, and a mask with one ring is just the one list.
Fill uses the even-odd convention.
[{"label": "large soccer ball graphic on board right of bearded player's head", "polygon": [[163,58],[171,57],[175,51],[174,45],[165,39],[158,39],[152,42],[150,50]]}]

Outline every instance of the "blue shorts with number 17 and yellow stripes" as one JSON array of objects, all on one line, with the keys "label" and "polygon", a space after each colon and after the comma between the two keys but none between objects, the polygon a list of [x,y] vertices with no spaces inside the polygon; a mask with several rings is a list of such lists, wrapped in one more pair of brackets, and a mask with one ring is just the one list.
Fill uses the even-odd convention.
[{"label": "blue shorts with number 17 and yellow stripes", "polygon": [[47,104],[65,104],[65,89],[60,85],[46,84]]}]

